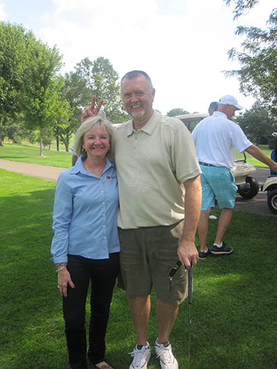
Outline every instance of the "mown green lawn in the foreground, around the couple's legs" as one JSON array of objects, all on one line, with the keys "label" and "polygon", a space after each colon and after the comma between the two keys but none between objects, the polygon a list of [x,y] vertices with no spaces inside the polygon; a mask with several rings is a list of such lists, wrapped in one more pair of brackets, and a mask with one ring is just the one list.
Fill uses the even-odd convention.
[{"label": "mown green lawn in the foreground, around the couple's legs", "polygon": [[[69,369],[62,300],[49,260],[55,182],[6,170],[0,179],[0,368]],[[210,221],[209,245],[217,222]],[[193,269],[191,368],[276,368],[276,217],[234,210],[224,240],[234,247],[231,255],[199,260]],[[160,368],[153,351],[155,305],[152,294],[148,369]],[[107,360],[114,368],[129,368],[135,341],[125,294],[115,288],[107,332]],[[188,368],[187,301],[170,342],[179,368]]]}]

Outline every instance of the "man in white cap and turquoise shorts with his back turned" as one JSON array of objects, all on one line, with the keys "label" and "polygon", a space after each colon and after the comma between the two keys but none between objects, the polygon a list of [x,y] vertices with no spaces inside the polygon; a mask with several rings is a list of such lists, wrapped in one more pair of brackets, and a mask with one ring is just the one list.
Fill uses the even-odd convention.
[{"label": "man in white cap and turquoise shorts with his back turned", "polygon": [[[229,254],[233,251],[232,247],[223,242],[223,237],[231,221],[237,192],[235,179],[230,169],[233,168],[235,161],[235,148],[239,152],[248,152],[270,168],[277,168],[277,163],[253,145],[240,126],[231,120],[235,111],[240,109],[243,108],[238,105],[233,96],[223,96],[218,102],[217,111],[202,120],[193,130],[193,141],[202,170],[202,206],[198,224],[199,259],[204,259],[211,253]],[[215,197],[222,213],[215,243],[209,249],[206,245],[208,219],[211,208],[215,206]]]}]

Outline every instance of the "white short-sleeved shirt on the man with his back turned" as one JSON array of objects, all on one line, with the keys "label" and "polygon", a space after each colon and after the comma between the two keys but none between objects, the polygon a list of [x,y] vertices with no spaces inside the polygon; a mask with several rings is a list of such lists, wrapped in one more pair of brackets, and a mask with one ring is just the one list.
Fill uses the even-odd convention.
[{"label": "white short-sleeved shirt on the man with his back turned", "polygon": [[244,152],[252,145],[240,126],[221,111],[197,124],[193,141],[199,161],[226,168],[234,166],[235,149]]}]

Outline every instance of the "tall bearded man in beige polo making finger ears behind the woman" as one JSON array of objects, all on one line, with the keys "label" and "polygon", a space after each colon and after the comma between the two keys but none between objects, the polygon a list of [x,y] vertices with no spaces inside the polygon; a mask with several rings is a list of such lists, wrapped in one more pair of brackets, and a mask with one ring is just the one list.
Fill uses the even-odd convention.
[{"label": "tall bearded man in beige polo making finger ears behind the woman", "polygon": [[[146,369],[150,359],[147,329],[152,286],[157,294],[159,330],[155,352],[162,369],[177,369],[169,334],[178,305],[187,296],[184,266],[188,269],[198,259],[195,231],[201,171],[186,126],[153,110],[155,90],[145,72],[125,74],[121,93],[132,116],[116,129],[115,148],[120,269],[137,336],[129,369]],[[90,116],[89,110],[83,111],[82,119]],[[169,283],[168,273],[178,258],[183,266]]]}]

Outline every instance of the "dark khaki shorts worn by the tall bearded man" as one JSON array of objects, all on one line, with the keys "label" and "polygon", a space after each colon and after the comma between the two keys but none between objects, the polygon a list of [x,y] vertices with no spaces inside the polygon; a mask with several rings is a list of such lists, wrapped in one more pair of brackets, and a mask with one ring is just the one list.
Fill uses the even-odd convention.
[{"label": "dark khaki shorts worn by the tall bearded man", "polygon": [[148,296],[154,290],[157,298],[171,305],[179,305],[187,296],[188,273],[181,266],[172,278],[168,273],[179,260],[177,250],[184,221],[172,226],[118,228],[120,240],[120,273],[128,299]]}]

